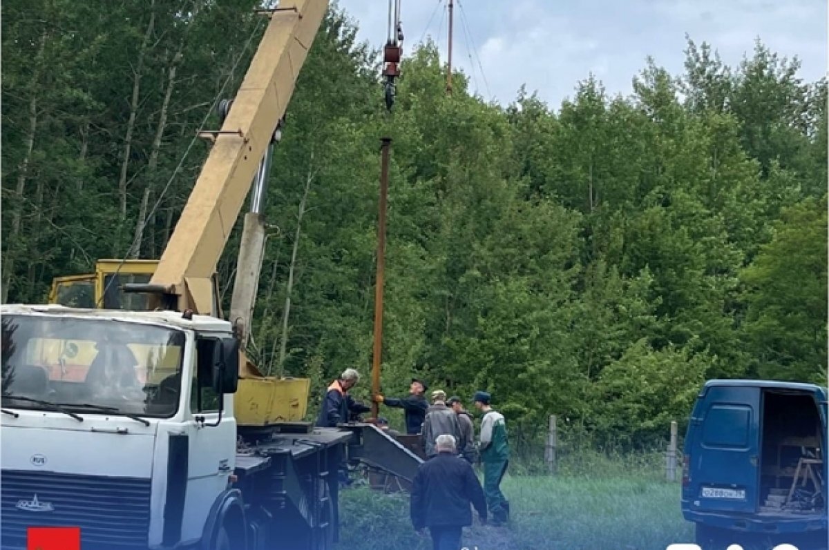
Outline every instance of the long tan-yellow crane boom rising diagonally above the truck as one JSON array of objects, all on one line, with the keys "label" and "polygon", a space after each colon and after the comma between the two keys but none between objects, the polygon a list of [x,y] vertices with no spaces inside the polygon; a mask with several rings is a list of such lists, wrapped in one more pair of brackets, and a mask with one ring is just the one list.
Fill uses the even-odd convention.
[{"label": "long tan-yellow crane boom rising diagonally above the truck", "polygon": [[[280,118],[327,0],[284,0],[270,21],[150,285],[179,311],[216,311],[213,275]],[[172,302],[172,303],[171,303]]]}]

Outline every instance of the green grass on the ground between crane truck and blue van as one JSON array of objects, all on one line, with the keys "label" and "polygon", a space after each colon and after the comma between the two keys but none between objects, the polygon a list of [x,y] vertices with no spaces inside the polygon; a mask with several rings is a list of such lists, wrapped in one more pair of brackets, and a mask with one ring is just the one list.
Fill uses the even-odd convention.
[{"label": "green grass on the ground between crane truck and blue van", "polygon": [[[664,550],[693,541],[681,516],[680,485],[659,479],[658,469],[629,461],[604,466],[598,475],[507,475],[511,501],[506,528],[474,525],[466,547],[478,550]],[[642,467],[638,467],[642,466]],[[578,470],[582,470],[582,467]],[[366,487],[341,494],[342,550],[429,550],[409,521],[408,495],[383,495]]]}]

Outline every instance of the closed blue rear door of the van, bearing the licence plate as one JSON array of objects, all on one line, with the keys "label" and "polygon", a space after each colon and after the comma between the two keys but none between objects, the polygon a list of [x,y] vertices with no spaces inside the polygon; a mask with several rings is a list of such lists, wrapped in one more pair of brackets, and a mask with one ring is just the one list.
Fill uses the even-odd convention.
[{"label": "closed blue rear door of the van, bearing the licence plate", "polygon": [[760,410],[757,387],[710,386],[700,398],[686,488],[695,509],[757,511]]}]

